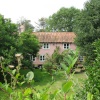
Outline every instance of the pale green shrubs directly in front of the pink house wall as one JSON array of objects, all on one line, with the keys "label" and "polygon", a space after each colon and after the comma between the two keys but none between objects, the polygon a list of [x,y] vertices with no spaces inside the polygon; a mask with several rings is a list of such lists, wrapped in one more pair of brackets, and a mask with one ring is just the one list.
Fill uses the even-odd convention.
[{"label": "pale green shrubs directly in front of the pink house wall", "polygon": [[46,70],[52,73],[53,70],[58,70],[63,68],[67,74],[70,73],[70,70],[75,65],[78,59],[78,52],[68,49],[61,52],[60,47],[56,47],[53,54],[50,56],[47,54],[46,60],[43,66]]}]

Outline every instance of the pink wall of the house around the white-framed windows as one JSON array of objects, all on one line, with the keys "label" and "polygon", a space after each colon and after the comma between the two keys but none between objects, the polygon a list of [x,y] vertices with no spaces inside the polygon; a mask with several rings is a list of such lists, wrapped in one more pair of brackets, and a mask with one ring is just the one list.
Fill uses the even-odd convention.
[{"label": "pink wall of the house around the white-framed windows", "polygon": [[[49,45],[50,45],[50,48],[48,48],[48,49],[44,49],[42,46],[38,54],[39,55],[46,55],[46,54],[52,55],[52,53],[54,52],[56,47],[60,47],[61,52],[64,51],[63,43],[49,43]],[[75,44],[70,43],[70,49],[75,50],[76,49]],[[36,57],[35,61],[33,63],[35,65],[41,65],[44,63],[44,61],[40,61],[39,57]]]}]

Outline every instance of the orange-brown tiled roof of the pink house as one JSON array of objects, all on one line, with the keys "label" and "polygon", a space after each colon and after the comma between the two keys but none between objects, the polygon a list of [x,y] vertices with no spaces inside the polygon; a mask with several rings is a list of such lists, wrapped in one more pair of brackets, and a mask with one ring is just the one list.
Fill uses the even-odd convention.
[{"label": "orange-brown tiled roof of the pink house", "polygon": [[74,42],[74,32],[34,32],[40,42]]}]

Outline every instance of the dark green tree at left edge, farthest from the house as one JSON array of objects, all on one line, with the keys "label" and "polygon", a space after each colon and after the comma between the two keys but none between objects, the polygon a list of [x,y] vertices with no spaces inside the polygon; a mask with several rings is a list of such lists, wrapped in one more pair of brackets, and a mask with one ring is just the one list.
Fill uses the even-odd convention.
[{"label": "dark green tree at left edge, farthest from the house", "polygon": [[6,64],[11,64],[14,61],[17,38],[16,24],[0,15],[0,56],[5,58]]}]

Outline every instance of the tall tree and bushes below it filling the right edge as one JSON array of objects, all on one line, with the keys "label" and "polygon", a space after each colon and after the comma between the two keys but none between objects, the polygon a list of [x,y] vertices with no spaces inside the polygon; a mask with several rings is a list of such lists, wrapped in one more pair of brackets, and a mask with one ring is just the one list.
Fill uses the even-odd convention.
[{"label": "tall tree and bushes below it filling the right edge", "polygon": [[86,56],[86,73],[88,79],[81,96],[76,100],[86,100],[86,93],[93,94],[93,100],[100,99],[100,0],[86,2],[84,9],[79,16],[76,44],[80,53]]}]

